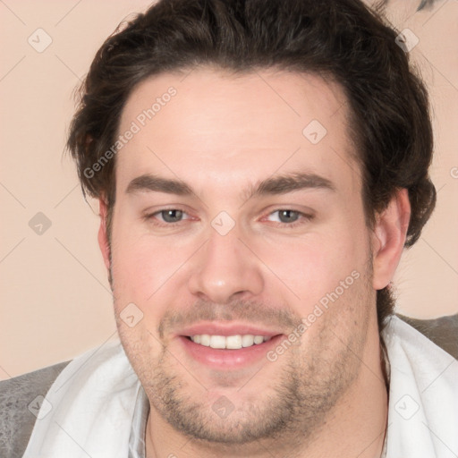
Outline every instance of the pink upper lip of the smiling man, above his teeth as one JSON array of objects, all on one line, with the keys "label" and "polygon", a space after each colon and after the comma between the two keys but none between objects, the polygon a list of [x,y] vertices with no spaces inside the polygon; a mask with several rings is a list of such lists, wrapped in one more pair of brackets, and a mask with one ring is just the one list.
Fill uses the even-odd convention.
[{"label": "pink upper lip of the smiling man, above his teeth", "polygon": [[222,322],[202,322],[192,325],[190,327],[183,327],[179,332],[175,333],[178,335],[263,335],[265,337],[273,337],[274,335],[282,334],[267,327],[259,327],[252,324],[243,323],[222,323]]}]

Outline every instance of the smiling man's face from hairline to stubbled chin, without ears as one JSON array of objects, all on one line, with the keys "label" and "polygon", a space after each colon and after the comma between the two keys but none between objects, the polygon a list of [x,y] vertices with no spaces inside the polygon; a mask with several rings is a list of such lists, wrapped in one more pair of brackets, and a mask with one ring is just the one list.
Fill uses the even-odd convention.
[{"label": "smiling man's face from hairline to stubbled chin, without ears", "polygon": [[[345,103],[317,76],[210,69],[159,75],[128,99],[114,307],[151,415],[175,430],[228,444],[307,435],[374,354],[371,238]],[[299,174],[302,186],[254,192]]]}]

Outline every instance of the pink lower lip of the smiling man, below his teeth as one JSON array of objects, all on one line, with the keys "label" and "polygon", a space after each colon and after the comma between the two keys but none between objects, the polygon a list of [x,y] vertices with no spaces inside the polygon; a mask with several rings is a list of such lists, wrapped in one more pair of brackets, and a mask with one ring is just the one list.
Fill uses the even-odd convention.
[{"label": "pink lower lip of the smiling man, below his teeth", "polygon": [[239,369],[259,360],[267,360],[267,352],[276,347],[283,335],[275,335],[267,342],[254,344],[238,350],[216,349],[195,344],[190,338],[180,335],[186,352],[193,360],[206,364],[214,369]]}]

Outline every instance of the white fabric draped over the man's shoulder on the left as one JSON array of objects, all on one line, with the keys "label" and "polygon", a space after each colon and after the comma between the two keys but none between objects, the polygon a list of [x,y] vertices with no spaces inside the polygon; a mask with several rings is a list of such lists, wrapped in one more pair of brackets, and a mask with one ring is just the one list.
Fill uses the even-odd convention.
[{"label": "white fabric draped over the man's shoulder on the left", "polygon": [[83,353],[49,389],[23,458],[127,458],[139,390],[119,340]]}]

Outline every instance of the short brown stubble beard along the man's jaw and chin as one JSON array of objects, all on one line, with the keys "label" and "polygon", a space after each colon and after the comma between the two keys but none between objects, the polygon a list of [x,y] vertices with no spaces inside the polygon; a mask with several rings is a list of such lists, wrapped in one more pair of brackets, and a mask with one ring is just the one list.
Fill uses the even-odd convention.
[{"label": "short brown stubble beard along the man's jaw and chin", "polygon": [[205,389],[195,383],[195,377],[186,373],[166,346],[153,358],[150,338],[132,339],[132,335],[124,335],[125,327],[118,328],[152,409],[184,436],[220,446],[275,442],[279,438],[284,442],[287,437],[292,444],[305,444],[318,437],[328,414],[360,372],[369,320],[369,278],[361,276],[361,280],[360,291],[346,300],[340,298],[318,318],[313,325],[317,332],[309,344],[290,347],[276,362],[266,360],[266,364],[278,364],[276,381],[266,389],[260,370],[249,384],[259,384],[260,395],[240,401],[242,388],[234,410],[224,419],[212,409]]}]

